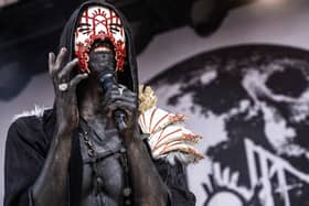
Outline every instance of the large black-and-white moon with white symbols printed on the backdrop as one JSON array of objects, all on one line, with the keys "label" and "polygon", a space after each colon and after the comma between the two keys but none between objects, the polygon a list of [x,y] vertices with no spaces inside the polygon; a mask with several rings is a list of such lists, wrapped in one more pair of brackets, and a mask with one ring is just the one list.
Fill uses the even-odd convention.
[{"label": "large black-and-white moon with white symbols printed on the backdrop", "polygon": [[309,52],[239,45],[152,78],[159,105],[203,134],[191,188],[205,206],[309,205]]}]

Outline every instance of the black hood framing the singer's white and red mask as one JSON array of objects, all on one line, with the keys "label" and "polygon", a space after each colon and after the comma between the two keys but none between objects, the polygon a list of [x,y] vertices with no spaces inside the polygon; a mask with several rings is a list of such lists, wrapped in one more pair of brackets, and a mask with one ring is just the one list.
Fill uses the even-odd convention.
[{"label": "black hood framing the singer's white and red mask", "polygon": [[118,14],[120,18],[124,28],[125,28],[125,34],[126,34],[126,48],[127,48],[127,57],[125,59],[125,66],[124,72],[118,72],[118,83],[121,85],[127,86],[129,89],[138,94],[138,75],[137,75],[137,63],[136,63],[136,54],[134,48],[134,42],[131,37],[131,30],[129,28],[129,23],[126,20],[126,18],[110,3],[105,2],[104,0],[92,0],[84,2],[79,8],[77,8],[68,21],[66,22],[64,30],[61,35],[60,40],[60,47],[65,46],[68,50],[68,56],[67,61],[70,62],[75,57],[74,52],[74,31],[77,25],[78,19],[82,15],[85,8],[88,8],[90,6],[103,6],[110,8],[115,11],[115,13]]}]

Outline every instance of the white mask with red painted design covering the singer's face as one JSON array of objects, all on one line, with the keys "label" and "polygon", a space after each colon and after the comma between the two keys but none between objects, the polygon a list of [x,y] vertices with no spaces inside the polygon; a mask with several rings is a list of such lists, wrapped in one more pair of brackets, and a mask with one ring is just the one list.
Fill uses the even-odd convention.
[{"label": "white mask with red painted design covering the singer's face", "polygon": [[88,72],[88,53],[95,41],[109,41],[115,50],[116,69],[124,69],[126,57],[126,36],[120,18],[109,8],[99,6],[85,9],[74,33],[75,55],[79,69]]}]

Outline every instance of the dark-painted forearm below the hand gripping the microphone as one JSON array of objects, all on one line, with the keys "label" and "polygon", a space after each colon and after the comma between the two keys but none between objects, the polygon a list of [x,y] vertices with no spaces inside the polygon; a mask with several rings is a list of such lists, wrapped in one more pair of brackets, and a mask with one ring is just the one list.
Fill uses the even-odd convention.
[{"label": "dark-painted forearm below the hand gripping the microphone", "polygon": [[168,205],[169,189],[162,181],[139,129],[124,132],[135,205]]}]

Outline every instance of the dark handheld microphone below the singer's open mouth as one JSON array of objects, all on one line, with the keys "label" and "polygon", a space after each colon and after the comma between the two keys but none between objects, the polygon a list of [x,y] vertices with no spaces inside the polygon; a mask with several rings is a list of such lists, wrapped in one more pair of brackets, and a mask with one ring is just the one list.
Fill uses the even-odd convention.
[{"label": "dark handheld microphone below the singer's open mouth", "polygon": [[[117,82],[114,76],[113,67],[107,67],[106,69],[100,72],[98,78],[99,78],[100,86],[105,90],[105,93],[108,93],[114,87],[117,87]],[[125,117],[126,117],[125,111],[122,109],[116,109],[115,111],[113,111],[113,117],[118,131],[124,131],[124,129],[127,128],[125,121]]]}]

